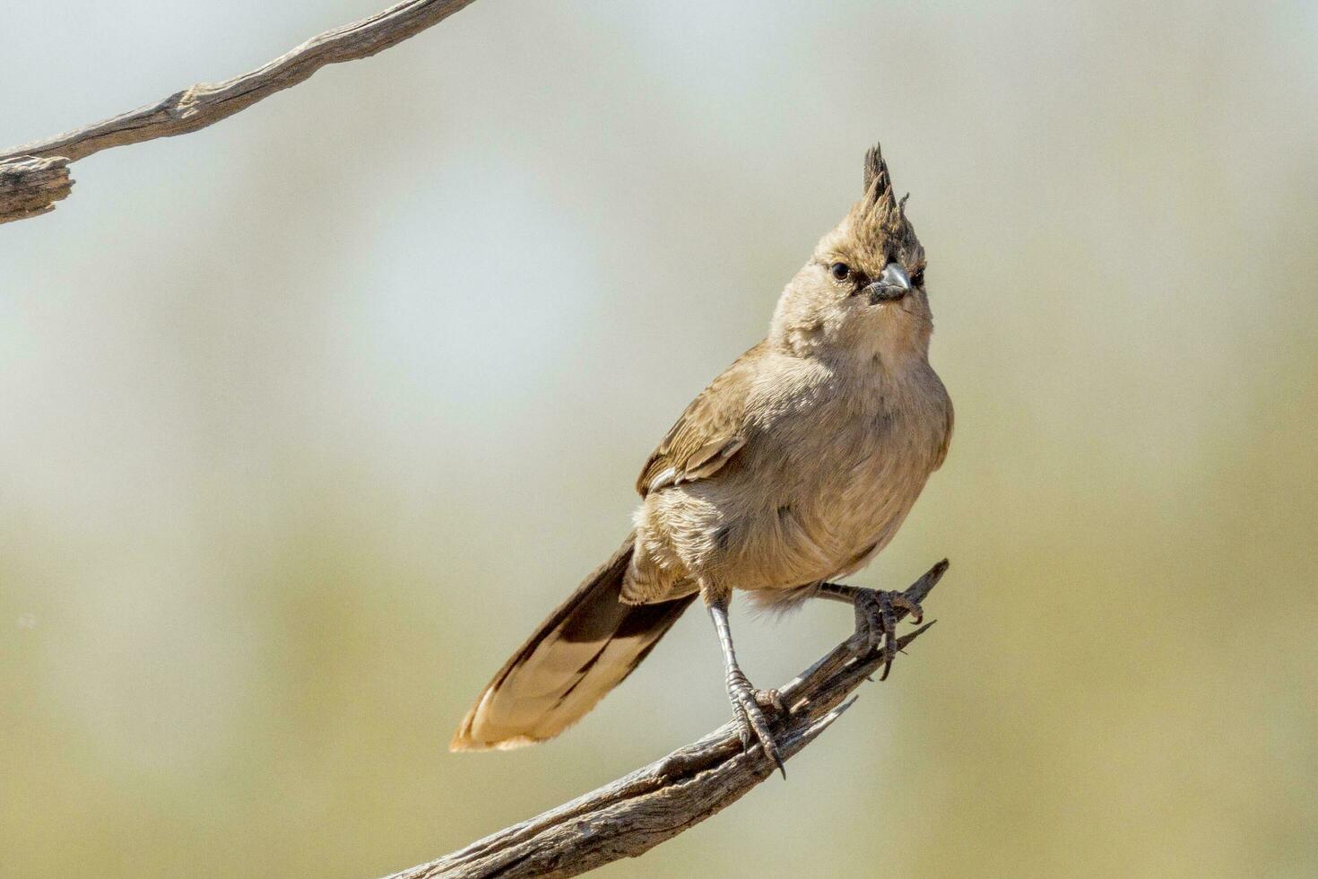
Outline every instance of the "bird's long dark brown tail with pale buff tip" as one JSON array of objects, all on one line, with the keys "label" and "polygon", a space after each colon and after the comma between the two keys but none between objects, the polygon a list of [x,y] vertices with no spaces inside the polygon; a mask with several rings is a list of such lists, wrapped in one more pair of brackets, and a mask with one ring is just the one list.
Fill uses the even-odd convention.
[{"label": "bird's long dark brown tail with pale buff tip", "polygon": [[534,745],[581,720],[622,683],[695,596],[625,605],[633,536],[540,623],[463,718],[452,751]]}]

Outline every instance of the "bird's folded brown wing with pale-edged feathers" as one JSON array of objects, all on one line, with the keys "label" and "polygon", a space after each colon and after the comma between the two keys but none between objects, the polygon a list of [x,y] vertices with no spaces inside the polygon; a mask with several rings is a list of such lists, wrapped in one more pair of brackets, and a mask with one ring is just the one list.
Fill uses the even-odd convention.
[{"label": "bird's folded brown wing with pale-edged feathers", "polygon": [[746,398],[763,345],[759,343],[738,357],[691,402],[641,468],[637,480],[641,497],[670,485],[709,478],[746,445],[750,439]]}]

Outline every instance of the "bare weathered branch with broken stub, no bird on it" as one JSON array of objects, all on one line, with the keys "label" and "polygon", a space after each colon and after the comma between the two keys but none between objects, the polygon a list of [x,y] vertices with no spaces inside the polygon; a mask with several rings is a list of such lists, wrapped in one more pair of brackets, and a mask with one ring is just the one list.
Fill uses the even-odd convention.
[{"label": "bare weathered branch with broken stub, no bird on it", "polygon": [[[36,158],[69,162],[111,146],[141,144],[214,125],[277,91],[306,80],[326,65],[369,58],[436,25],[473,0],[405,0],[384,12],[327,30],[274,61],[221,83],[199,83],[154,104],[83,128],[0,152],[0,223],[37,216],[69,195],[40,174],[21,167]],[[16,163],[17,162],[17,163]]]}]

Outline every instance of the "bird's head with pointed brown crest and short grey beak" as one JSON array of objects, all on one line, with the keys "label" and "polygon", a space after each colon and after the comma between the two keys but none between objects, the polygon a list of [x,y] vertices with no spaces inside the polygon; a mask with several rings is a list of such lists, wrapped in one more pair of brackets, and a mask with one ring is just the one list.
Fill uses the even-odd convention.
[{"label": "bird's head with pointed brown crest and short grey beak", "polygon": [[796,353],[924,357],[933,315],[924,248],[879,146],[865,154],[865,191],[783,290],[770,337]]}]

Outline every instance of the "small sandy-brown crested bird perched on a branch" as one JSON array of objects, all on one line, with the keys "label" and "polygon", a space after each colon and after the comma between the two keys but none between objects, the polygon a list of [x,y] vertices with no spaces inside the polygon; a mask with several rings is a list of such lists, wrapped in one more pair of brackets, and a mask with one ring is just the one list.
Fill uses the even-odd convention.
[{"label": "small sandy-brown crested bird perched on a branch", "polygon": [[[550,739],[621,684],[697,598],[724,659],[742,747],[782,770],[768,714],[733,647],[733,593],[791,609],[850,604],[884,676],[900,592],[840,580],[900,528],[952,441],[953,407],[929,364],[927,258],[878,144],[862,194],[783,289],[766,337],[683,411],[637,480],[631,532],[509,658],[449,749]],[[786,771],[784,771],[786,776]]]}]

